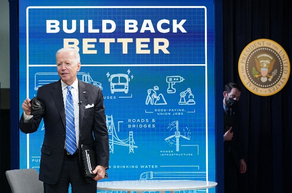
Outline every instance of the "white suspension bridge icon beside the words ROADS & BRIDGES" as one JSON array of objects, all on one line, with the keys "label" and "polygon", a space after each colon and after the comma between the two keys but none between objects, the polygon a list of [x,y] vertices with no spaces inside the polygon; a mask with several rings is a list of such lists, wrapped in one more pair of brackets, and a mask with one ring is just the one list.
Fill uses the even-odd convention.
[{"label": "white suspension bridge icon beside the words ROADS & BRIDGES", "polygon": [[119,139],[114,121],[113,121],[113,116],[106,115],[106,125],[107,125],[107,130],[108,130],[108,135],[109,135],[109,148],[110,148],[110,153],[114,153],[114,144],[115,145],[122,145],[122,146],[128,146],[129,147],[129,153],[134,153],[134,148],[138,148],[138,146],[134,145],[134,138],[133,138],[133,131],[129,131],[129,137],[121,140]]}]

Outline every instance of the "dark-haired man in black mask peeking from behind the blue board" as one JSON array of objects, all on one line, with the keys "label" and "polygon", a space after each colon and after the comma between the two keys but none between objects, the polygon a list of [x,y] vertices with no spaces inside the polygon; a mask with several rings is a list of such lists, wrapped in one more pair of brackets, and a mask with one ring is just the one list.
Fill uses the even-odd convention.
[{"label": "dark-haired man in black mask peeking from behind the blue board", "polygon": [[238,192],[237,173],[245,173],[246,163],[240,149],[238,132],[241,131],[241,116],[236,105],[241,94],[240,86],[235,83],[225,85],[223,92],[224,108],[224,187],[225,193]]}]

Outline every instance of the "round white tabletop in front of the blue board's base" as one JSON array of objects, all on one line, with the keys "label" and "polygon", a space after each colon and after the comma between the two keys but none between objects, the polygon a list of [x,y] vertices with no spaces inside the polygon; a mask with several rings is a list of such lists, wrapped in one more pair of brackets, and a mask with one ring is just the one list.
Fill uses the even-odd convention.
[{"label": "round white tabletop in front of the blue board's base", "polygon": [[97,182],[97,189],[112,191],[174,191],[215,187],[216,182],[199,180],[128,180]]}]

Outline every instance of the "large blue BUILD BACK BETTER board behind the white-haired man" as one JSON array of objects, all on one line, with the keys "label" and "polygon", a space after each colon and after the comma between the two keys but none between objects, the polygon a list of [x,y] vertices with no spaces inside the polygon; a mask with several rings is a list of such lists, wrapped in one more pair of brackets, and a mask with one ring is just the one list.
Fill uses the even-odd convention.
[{"label": "large blue BUILD BACK BETTER board behind the white-haired man", "polygon": [[[59,80],[58,49],[78,49],[78,78],[104,95],[103,181],[215,181],[213,1],[125,5],[20,0],[20,104]],[[20,132],[20,168],[38,170],[45,129]]]}]

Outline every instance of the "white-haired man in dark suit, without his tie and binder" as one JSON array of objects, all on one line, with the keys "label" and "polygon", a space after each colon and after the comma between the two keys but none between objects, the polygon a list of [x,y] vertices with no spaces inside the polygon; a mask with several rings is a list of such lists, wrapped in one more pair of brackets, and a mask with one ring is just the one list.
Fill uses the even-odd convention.
[{"label": "white-haired man in dark suit, without his tie and binder", "polygon": [[[39,179],[44,182],[44,192],[68,192],[69,183],[73,193],[97,191],[97,180],[104,178],[109,164],[109,141],[105,120],[105,107],[101,90],[77,78],[80,70],[80,55],[72,48],[63,48],[56,53],[57,71],[60,80],[38,89],[37,99],[44,113],[30,115],[30,99],[22,104],[24,113],[20,130],[24,133],[37,131],[44,121],[45,134],[41,148]],[[75,131],[77,148],[81,144],[95,144],[98,166],[94,178],[85,177],[81,152],[69,154],[65,149],[65,105],[67,86],[74,100]]]}]

